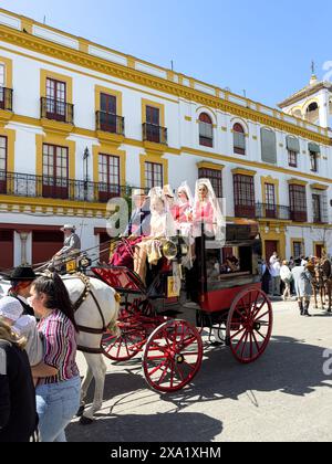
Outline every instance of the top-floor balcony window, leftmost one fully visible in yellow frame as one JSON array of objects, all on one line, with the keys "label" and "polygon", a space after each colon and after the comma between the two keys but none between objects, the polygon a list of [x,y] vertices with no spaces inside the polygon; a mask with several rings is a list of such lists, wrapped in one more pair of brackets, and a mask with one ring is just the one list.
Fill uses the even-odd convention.
[{"label": "top-floor balcony window, leftmost one fully visible in yellow frame", "polygon": [[46,117],[65,120],[66,118],[66,84],[65,82],[46,80]]}]

